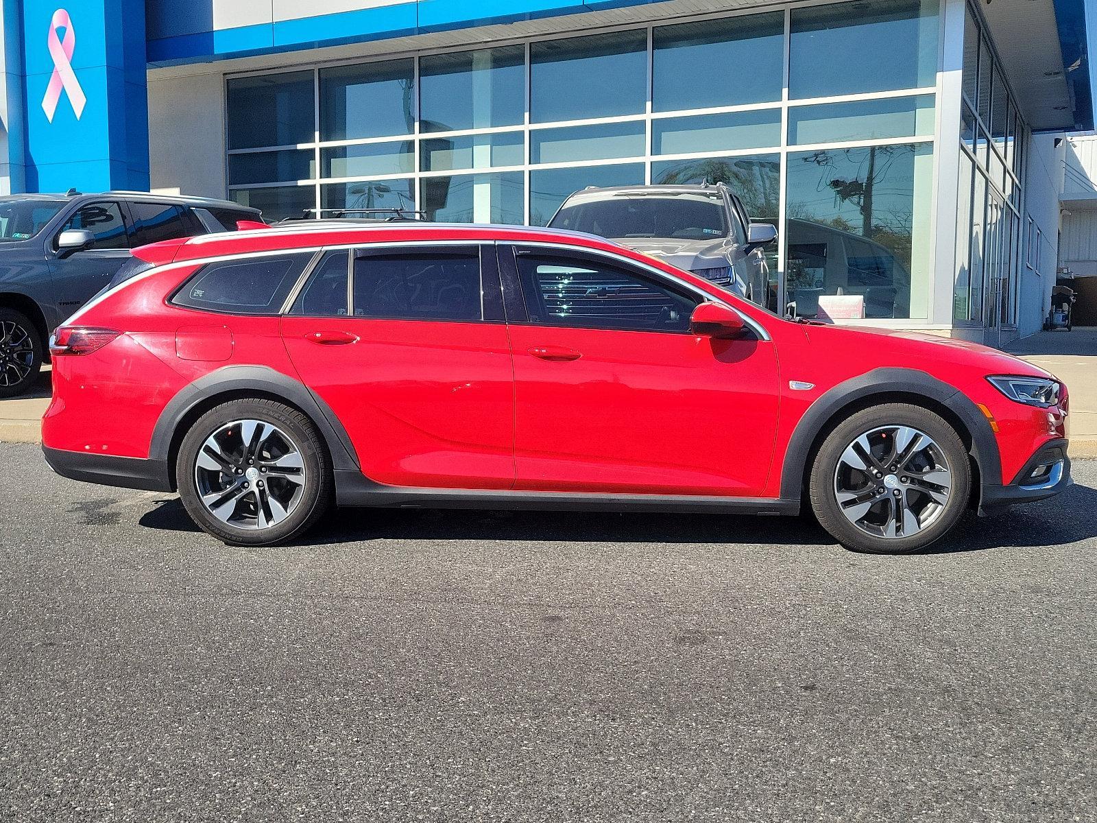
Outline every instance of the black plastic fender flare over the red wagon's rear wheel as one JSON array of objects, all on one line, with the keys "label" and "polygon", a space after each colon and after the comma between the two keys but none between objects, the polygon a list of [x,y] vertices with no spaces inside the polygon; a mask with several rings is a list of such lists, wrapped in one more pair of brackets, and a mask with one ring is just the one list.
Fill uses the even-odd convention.
[{"label": "black plastic fender flare over the red wagon's rear wheel", "polygon": [[304,383],[265,365],[226,365],[185,386],[160,413],[152,430],[149,458],[168,464],[171,442],[179,425],[200,403],[222,394],[247,392],[283,397],[299,408],[324,437],[331,454],[332,467],[337,471],[359,470],[350,437],[330,406],[313,394]]}]

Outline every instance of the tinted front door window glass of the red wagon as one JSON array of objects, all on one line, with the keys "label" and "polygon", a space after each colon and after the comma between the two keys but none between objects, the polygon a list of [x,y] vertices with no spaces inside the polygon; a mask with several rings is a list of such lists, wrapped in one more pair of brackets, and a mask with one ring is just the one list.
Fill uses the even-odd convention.
[{"label": "tinted front door window glass of the red wagon", "polygon": [[525,308],[538,326],[686,332],[699,303],[610,261],[527,249],[516,257]]}]

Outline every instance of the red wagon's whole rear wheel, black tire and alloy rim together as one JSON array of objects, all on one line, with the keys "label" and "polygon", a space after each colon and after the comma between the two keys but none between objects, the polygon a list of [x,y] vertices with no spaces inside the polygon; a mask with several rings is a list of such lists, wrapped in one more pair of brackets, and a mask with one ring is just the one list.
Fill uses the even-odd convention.
[{"label": "red wagon's whole rear wheel, black tire and alloy rim together", "polygon": [[234,545],[271,545],[309,529],[331,499],[331,465],[312,421],[270,399],[207,412],[179,448],[176,480],[188,514]]}]

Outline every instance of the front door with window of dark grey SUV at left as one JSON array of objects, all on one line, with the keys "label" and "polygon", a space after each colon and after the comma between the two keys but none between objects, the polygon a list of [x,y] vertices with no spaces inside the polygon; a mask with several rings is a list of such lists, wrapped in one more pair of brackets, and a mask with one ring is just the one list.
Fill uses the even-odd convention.
[{"label": "front door with window of dark grey SUV at left", "polygon": [[[57,238],[69,229],[90,232],[95,245],[75,253],[60,253]],[[56,302],[61,316],[68,316],[106,285],[129,259],[128,226],[117,201],[84,203],[47,238]]]}]

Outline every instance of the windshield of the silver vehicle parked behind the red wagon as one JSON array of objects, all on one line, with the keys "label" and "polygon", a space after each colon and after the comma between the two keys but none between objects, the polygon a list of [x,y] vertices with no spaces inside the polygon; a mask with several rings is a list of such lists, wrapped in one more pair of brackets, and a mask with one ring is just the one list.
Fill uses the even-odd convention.
[{"label": "windshield of the silver vehicle parked behind the red wagon", "polygon": [[612,239],[717,240],[727,237],[727,214],[717,193],[618,195],[565,205],[553,217],[552,227]]}]

